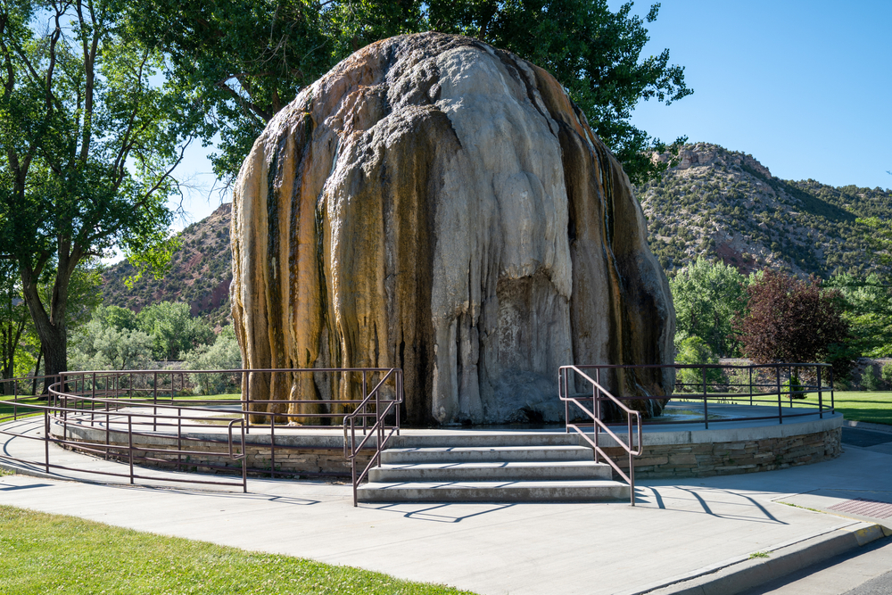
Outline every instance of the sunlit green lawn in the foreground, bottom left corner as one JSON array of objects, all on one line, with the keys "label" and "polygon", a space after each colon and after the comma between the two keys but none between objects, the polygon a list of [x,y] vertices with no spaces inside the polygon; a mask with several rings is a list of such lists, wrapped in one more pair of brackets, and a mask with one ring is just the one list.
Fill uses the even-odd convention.
[{"label": "sunlit green lawn in the foreground, bottom left corner", "polygon": [[14,593],[469,593],[0,506],[0,584]]}]

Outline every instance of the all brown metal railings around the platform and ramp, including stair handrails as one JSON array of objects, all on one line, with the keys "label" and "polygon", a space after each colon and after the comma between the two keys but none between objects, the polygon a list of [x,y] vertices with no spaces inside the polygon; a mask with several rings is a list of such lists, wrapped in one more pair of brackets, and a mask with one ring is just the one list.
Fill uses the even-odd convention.
[{"label": "all brown metal railings around the platform and ramp, including stair handrails", "polygon": [[[643,385],[637,375],[674,374],[674,393],[666,395],[624,396],[612,393],[607,387],[611,376],[625,375],[626,385]],[[206,375],[224,384],[244,386],[240,394],[216,398],[187,396],[190,378]],[[258,399],[252,395],[252,379],[265,377],[267,386],[276,382],[291,384],[299,376],[313,376],[313,386],[327,387],[338,399],[273,400]],[[19,394],[20,384],[35,386],[37,380],[46,380],[49,394],[45,401],[36,401],[31,395]],[[244,382],[243,382],[244,381]],[[645,383],[646,384],[646,383]],[[307,385],[307,384],[304,384]],[[277,453],[305,449],[284,442],[277,442],[277,434],[293,435],[302,429],[326,428],[343,430],[343,457],[350,462],[353,483],[353,501],[356,505],[357,486],[367,477],[372,467],[381,465],[381,451],[392,436],[400,434],[400,409],[403,402],[403,379],[400,368],[268,368],[251,370],[128,370],[65,372],[59,376],[19,378],[0,381],[4,394],[12,400],[2,401],[5,413],[0,411],[0,423],[21,417],[42,417],[44,431],[16,434],[15,430],[0,427],[0,434],[19,436],[44,443],[42,461],[22,461],[42,465],[47,472],[52,468],[78,471],[50,460],[50,445],[78,449],[103,459],[125,462],[128,473],[107,473],[128,478],[130,483],[145,479],[139,466],[168,465],[178,471],[188,467],[202,468],[210,472],[241,471],[240,482],[247,489],[249,473],[270,477],[286,475],[314,475],[307,471],[287,471],[277,467]],[[577,393],[577,387],[585,391]],[[636,392],[640,392],[636,391]],[[794,407],[794,402],[806,394],[817,395],[817,403],[811,408]],[[825,395],[829,396],[829,404]],[[268,397],[268,395],[264,395]],[[290,396],[290,395],[289,395]],[[665,418],[642,419],[640,411],[631,401],[665,400],[695,401],[702,405],[704,427],[712,421],[756,421],[784,419],[834,412],[833,372],[827,364],[767,364],[767,365],[577,365],[560,368],[558,373],[558,397],[565,402],[566,432],[581,434],[594,450],[596,462],[605,459],[618,475],[632,486],[634,504],[634,458],[641,454],[642,426],[651,424],[690,424],[690,416],[683,420]],[[772,413],[747,417],[711,417],[710,402],[770,404],[776,407]],[[608,407],[609,405],[609,407]],[[784,407],[788,405],[788,407]],[[618,423],[607,420],[610,409],[613,416],[622,417]],[[767,408],[765,408],[767,409]],[[695,420],[696,421],[696,420]],[[283,424],[283,422],[285,424]],[[208,437],[209,425],[222,424],[216,436]],[[299,426],[290,426],[296,424]],[[618,428],[624,426],[623,439]],[[54,429],[58,431],[53,431]],[[101,440],[74,440],[71,431],[89,429]],[[193,434],[202,429],[202,436]],[[269,466],[251,467],[246,448],[249,436],[263,428],[268,430]],[[176,448],[155,448],[148,436],[159,433],[176,439]],[[359,436],[357,435],[359,433]],[[591,437],[589,436],[591,433]],[[625,451],[629,459],[628,472],[608,457],[600,442],[600,434],[608,434]],[[208,446],[223,447],[229,464],[220,465],[201,460],[209,454]],[[215,451],[216,452],[216,451]],[[361,469],[359,459],[368,455],[368,463]],[[163,459],[162,457],[167,457]],[[171,457],[176,460],[171,461]],[[197,457],[198,460],[189,460]],[[0,453],[0,460],[17,460]],[[234,469],[233,466],[240,467]],[[104,471],[92,471],[97,474]],[[326,474],[329,475],[329,474]],[[211,480],[204,477],[189,478],[178,475],[171,480],[185,483],[234,485],[233,482]]]}]

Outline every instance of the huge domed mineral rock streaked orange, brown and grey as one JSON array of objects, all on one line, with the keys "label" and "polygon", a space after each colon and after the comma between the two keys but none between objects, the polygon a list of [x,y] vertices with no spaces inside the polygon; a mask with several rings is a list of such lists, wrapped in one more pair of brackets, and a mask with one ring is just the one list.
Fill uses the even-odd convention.
[{"label": "huge domed mineral rock streaked orange, brown and grey", "polygon": [[[559,366],[672,362],[646,234],[622,167],[548,72],[467,37],[385,39],[305,88],[244,161],[244,364],[402,368],[417,425],[558,421]],[[673,376],[605,382],[662,395]],[[351,396],[309,375],[251,383],[254,398]],[[320,410],[269,410],[286,409]]]}]

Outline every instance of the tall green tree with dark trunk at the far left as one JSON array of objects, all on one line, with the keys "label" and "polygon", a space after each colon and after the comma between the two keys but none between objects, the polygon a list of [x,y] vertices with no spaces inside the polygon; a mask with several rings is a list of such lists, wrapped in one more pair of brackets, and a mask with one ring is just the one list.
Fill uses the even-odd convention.
[{"label": "tall green tree with dark trunk at the far left", "polygon": [[[106,0],[0,0],[0,255],[17,263],[45,373],[67,364],[78,263],[158,250],[190,95]],[[42,296],[39,285],[49,285]]]}]

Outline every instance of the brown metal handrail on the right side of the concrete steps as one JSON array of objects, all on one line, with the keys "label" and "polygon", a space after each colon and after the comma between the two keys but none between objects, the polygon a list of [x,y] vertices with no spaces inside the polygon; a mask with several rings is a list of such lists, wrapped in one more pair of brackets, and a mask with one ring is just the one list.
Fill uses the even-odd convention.
[{"label": "brown metal handrail on the right side of the concrete steps", "polygon": [[[595,409],[594,411],[585,407],[585,405],[583,405],[582,402],[580,402],[578,399],[574,398],[573,396],[571,396],[569,394],[569,390],[568,390],[569,382],[568,382],[567,376],[570,372],[574,372],[574,373],[578,374],[579,376],[582,376],[586,381],[591,383],[591,399],[592,399],[592,403],[593,403],[593,409]],[[599,376],[599,375],[596,374],[596,376]],[[616,473],[619,474],[626,481],[626,483],[629,483],[629,492],[630,492],[629,498],[631,500],[632,506],[635,506],[635,460],[634,460],[634,458],[639,456],[642,452],[641,414],[640,414],[640,412],[638,412],[634,409],[630,409],[630,408],[626,407],[622,401],[617,399],[613,394],[611,394],[609,391],[607,391],[607,389],[605,389],[603,386],[601,386],[601,384],[599,383],[599,379],[595,380],[594,378],[592,378],[591,376],[589,376],[588,374],[583,372],[580,368],[577,368],[575,366],[561,366],[558,369],[558,397],[560,398],[561,401],[564,401],[564,403],[565,403],[565,405],[564,405],[565,417],[564,418],[565,418],[565,423],[566,423],[566,432],[569,433],[570,430],[572,429],[576,432],[576,434],[580,434],[582,436],[582,438],[585,439],[586,442],[589,442],[592,450],[594,450],[595,462],[596,463],[599,462],[599,456],[603,457],[604,460],[607,461],[607,464],[609,464],[610,467],[613,467],[614,470],[616,471]],[[609,428],[609,426],[607,426],[607,424],[605,424],[603,421],[601,421],[600,403],[601,403],[601,401],[605,400],[601,397],[602,394],[607,397],[607,400],[613,401],[615,403],[615,405],[617,407],[619,407],[625,413],[626,424],[627,424],[627,429],[628,429],[628,434],[626,434],[626,437],[628,439],[628,442],[623,442],[619,436],[617,436],[616,434],[613,433],[613,431]],[[570,403],[573,403],[576,407],[578,407],[579,409],[582,409],[582,412],[585,413],[585,415],[587,415],[588,417],[591,417],[593,439],[589,438],[588,434],[585,434],[585,432],[582,430],[582,428],[580,426],[570,422],[570,407],[569,407]],[[633,448],[635,441],[632,439],[632,417],[635,418],[635,426],[638,430],[638,448],[637,449]],[[607,456],[607,452],[605,452],[600,447],[599,434],[600,434],[601,430],[603,430],[611,438],[613,438],[614,441],[617,444],[619,444],[619,446],[622,447],[623,450],[625,450],[626,453],[629,455],[629,473],[628,473],[628,475],[625,474],[623,469],[621,469],[613,461],[613,459],[610,459],[610,457]]]}]

